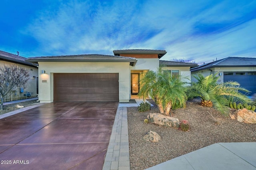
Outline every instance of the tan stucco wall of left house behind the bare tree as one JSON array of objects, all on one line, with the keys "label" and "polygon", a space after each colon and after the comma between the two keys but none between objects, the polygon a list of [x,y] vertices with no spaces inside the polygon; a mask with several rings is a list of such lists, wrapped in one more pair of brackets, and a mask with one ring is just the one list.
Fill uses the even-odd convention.
[{"label": "tan stucco wall of left house behind the bare tree", "polygon": [[36,95],[37,95],[36,94],[36,79],[34,79],[33,76],[38,77],[38,68],[30,67],[30,66],[26,66],[26,65],[22,65],[22,64],[17,64],[17,63],[11,63],[8,61],[0,61],[0,65],[10,65],[10,64],[18,65],[20,67],[24,67],[24,68],[28,69],[28,71],[30,72],[30,78],[28,80],[27,87],[24,89],[24,93],[20,93],[20,89],[17,89],[16,95],[9,93],[8,96],[6,97],[6,99],[4,99],[4,101],[10,101],[10,100],[16,100],[16,99],[18,100],[21,98],[26,99],[26,96],[24,96],[24,94],[26,94],[26,92],[31,93],[31,97],[36,97]]}]

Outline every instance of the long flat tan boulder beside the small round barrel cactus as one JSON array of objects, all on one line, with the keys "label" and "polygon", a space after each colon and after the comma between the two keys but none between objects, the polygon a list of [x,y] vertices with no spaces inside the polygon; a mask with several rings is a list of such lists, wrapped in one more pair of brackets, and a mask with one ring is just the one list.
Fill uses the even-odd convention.
[{"label": "long flat tan boulder beside the small round barrel cactus", "polygon": [[148,120],[156,125],[164,127],[180,127],[179,119],[175,117],[164,116],[159,113],[150,113]]}]

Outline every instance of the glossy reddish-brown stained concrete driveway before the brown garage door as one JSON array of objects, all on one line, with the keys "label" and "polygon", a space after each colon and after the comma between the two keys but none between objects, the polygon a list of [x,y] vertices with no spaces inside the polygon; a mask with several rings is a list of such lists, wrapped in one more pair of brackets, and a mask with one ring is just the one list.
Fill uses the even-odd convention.
[{"label": "glossy reddish-brown stained concrete driveway before the brown garage door", "polygon": [[48,103],[0,119],[0,169],[102,170],[117,107]]}]

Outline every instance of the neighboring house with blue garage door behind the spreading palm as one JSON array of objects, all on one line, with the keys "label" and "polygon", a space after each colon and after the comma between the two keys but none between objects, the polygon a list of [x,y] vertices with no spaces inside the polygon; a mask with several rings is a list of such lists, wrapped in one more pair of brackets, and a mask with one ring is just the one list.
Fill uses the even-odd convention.
[{"label": "neighboring house with blue garage door behind the spreading palm", "polygon": [[[256,58],[227,57],[190,69],[192,75],[202,73],[204,76],[218,73],[219,83],[237,81],[241,87],[256,93]],[[192,77],[192,81],[195,81]]]}]

